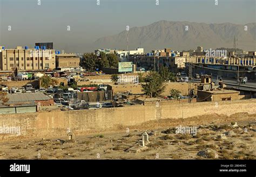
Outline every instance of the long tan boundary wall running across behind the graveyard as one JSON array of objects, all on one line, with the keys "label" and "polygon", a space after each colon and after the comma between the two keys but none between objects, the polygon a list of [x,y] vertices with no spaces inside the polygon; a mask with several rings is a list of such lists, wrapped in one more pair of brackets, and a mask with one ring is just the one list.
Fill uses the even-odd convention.
[{"label": "long tan boundary wall running across behind the graveyard", "polygon": [[[0,115],[0,140],[65,136],[114,131],[159,119],[186,119],[207,114],[256,113],[256,100],[207,103],[147,103],[100,110],[51,111]],[[220,117],[221,119],[221,117]],[[1,132],[1,127],[21,127],[21,135]]]}]

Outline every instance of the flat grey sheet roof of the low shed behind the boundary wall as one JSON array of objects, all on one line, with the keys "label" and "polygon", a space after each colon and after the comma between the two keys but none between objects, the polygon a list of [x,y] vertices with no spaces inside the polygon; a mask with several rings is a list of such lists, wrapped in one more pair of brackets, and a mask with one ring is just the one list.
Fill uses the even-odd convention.
[{"label": "flat grey sheet roof of the low shed behind the boundary wall", "polygon": [[20,94],[8,94],[8,103],[22,102],[22,101],[35,101],[35,100],[49,100],[49,97],[43,93],[20,93]]}]

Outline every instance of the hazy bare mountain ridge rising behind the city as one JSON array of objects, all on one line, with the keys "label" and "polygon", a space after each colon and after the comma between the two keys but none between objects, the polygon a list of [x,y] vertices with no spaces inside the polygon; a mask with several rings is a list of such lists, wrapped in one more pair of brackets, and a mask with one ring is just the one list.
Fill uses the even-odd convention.
[{"label": "hazy bare mountain ridge rising behind the city", "polygon": [[[248,30],[244,30],[244,26]],[[234,35],[243,50],[256,50],[256,23],[237,25],[232,23],[206,24],[193,22],[159,21],[147,26],[130,28],[129,50],[141,44],[146,51],[171,47],[173,50],[204,49],[233,47]],[[185,30],[188,26],[188,31]],[[126,49],[126,31],[117,35],[99,38],[96,48]]]}]

